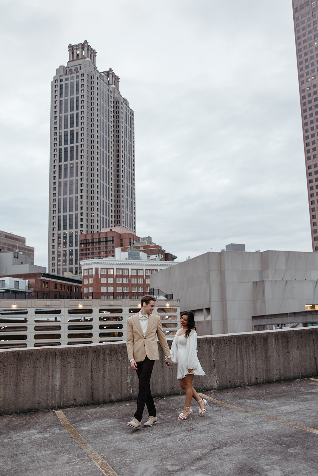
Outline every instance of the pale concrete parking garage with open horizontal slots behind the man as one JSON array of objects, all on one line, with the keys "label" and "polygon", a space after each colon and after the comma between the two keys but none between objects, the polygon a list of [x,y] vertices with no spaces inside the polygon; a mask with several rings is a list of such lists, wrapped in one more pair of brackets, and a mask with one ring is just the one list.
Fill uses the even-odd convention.
[{"label": "pale concrete parking garage with open horizontal slots behind the man", "polygon": [[[178,301],[155,304],[166,336],[173,337],[180,328]],[[0,350],[125,341],[127,318],[140,307],[129,299],[0,299]]]}]

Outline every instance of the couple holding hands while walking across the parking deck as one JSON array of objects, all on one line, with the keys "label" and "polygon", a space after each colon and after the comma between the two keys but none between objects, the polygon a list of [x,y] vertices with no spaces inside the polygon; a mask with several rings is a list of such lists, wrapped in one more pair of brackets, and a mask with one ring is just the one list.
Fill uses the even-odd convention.
[{"label": "couple holding hands while walking across the parking deck", "polygon": [[194,314],[191,311],[183,312],[180,318],[182,328],[176,333],[171,351],[168,347],[164,331],[159,316],[153,313],[156,298],[144,296],[141,299],[141,309],[139,313],[127,319],[127,352],[131,367],[136,370],[139,379],[139,392],[137,397],[137,411],[133,419],[127,425],[133,428],[141,426],[144,406],[149,413],[145,427],[153,426],[157,423],[154,399],[150,390],[150,378],[154,367],[154,361],[158,360],[157,336],[161,347],[165,353],[165,364],[170,367],[171,362],[178,364],[178,379],[180,387],[185,390],[185,407],[180,413],[178,420],[185,420],[188,415],[191,417],[192,408],[190,406],[192,397],[199,405],[199,414],[205,414],[204,398],[200,398],[195,388],[192,387],[195,375],[205,375],[199,359],[196,355],[196,340]]}]

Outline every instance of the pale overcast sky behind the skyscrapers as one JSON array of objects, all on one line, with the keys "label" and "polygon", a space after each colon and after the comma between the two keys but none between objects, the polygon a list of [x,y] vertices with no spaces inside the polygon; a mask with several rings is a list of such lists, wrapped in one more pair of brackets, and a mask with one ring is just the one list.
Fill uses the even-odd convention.
[{"label": "pale overcast sky behind the skyscrapers", "polygon": [[291,0],[1,0],[0,229],[47,266],[51,80],[85,39],[135,113],[137,235],[311,251]]}]

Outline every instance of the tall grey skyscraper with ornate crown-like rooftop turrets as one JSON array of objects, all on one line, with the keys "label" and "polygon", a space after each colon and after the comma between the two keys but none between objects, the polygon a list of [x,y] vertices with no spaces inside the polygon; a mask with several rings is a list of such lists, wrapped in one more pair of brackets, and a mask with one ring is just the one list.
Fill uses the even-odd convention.
[{"label": "tall grey skyscraper with ornate crown-like rooftop turrets", "polygon": [[85,40],[51,83],[48,271],[79,273],[79,235],[135,232],[134,119],[110,68]]}]

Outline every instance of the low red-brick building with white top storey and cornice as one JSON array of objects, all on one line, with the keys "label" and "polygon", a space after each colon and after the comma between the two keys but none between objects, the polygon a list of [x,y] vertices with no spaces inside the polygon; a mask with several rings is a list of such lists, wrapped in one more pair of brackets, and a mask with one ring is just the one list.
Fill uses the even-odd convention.
[{"label": "low red-brick building with white top storey and cornice", "polygon": [[[121,253],[121,248],[117,249]],[[127,252],[123,252],[123,259],[81,261],[83,299],[141,299],[149,294],[150,277],[176,264],[173,261],[148,260],[145,253],[139,249],[136,251],[139,259],[128,259]]]}]

